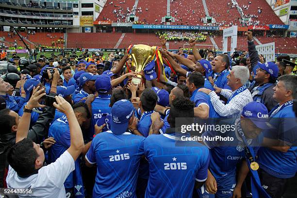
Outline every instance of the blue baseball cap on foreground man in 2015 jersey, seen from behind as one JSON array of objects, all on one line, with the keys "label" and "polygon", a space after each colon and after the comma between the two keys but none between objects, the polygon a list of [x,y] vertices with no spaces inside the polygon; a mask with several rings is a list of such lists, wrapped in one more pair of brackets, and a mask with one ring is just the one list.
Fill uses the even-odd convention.
[{"label": "blue baseball cap on foreground man in 2015 jersey, seen from behind", "polygon": [[129,120],[134,113],[132,103],[127,99],[121,99],[115,102],[111,109],[112,122],[111,131],[114,134],[122,134],[126,132]]}]

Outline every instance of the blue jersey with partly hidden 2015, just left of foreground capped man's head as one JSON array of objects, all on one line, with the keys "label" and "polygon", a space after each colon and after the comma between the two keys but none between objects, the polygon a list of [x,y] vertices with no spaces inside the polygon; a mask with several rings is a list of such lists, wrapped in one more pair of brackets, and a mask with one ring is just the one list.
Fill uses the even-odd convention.
[{"label": "blue jersey with partly hidden 2015, just left of foreground capped man's head", "polygon": [[[92,102],[92,122],[90,126],[90,138],[95,134],[95,125],[99,119],[105,119],[106,116],[111,114],[110,95],[99,95]],[[104,116],[102,116],[104,115]],[[99,121],[100,123],[103,121]],[[104,129],[103,129],[104,132]]]}]

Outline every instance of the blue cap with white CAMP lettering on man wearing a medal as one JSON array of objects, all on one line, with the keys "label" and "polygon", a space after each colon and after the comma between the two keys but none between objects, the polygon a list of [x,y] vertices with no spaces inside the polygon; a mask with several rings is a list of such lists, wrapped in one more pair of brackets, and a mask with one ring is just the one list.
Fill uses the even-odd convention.
[{"label": "blue cap with white CAMP lettering on man wearing a medal", "polygon": [[268,110],[261,102],[249,102],[244,106],[241,115],[250,119],[260,129],[273,128],[268,122]]}]

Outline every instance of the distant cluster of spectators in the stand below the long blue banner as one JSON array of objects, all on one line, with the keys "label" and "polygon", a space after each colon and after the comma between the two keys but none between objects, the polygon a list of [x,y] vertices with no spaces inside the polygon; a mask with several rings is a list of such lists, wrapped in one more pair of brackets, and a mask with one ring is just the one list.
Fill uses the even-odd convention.
[{"label": "distant cluster of spectators in the stand below the long blue banner", "polygon": [[197,42],[206,41],[207,36],[203,33],[195,33],[195,32],[156,32],[157,36],[162,36],[168,41],[189,41],[192,38],[195,38]]}]

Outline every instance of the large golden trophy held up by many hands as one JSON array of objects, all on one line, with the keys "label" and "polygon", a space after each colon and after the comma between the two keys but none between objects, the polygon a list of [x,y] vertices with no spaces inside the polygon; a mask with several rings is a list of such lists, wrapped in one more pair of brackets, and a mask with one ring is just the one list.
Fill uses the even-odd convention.
[{"label": "large golden trophy held up by many hands", "polygon": [[[133,45],[131,50],[132,66],[135,66],[135,71],[140,72],[148,65],[155,55],[155,49],[147,45]],[[132,82],[137,85],[141,82],[142,76],[132,78]]]}]

